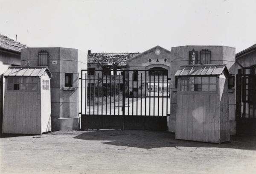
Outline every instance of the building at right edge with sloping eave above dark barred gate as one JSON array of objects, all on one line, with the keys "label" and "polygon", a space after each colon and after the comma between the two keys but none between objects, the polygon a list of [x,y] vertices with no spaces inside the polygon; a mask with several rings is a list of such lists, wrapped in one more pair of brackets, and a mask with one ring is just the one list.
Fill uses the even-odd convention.
[{"label": "building at right edge with sloping eave above dark barred gate", "polygon": [[256,44],[236,53],[237,132],[256,134]]}]

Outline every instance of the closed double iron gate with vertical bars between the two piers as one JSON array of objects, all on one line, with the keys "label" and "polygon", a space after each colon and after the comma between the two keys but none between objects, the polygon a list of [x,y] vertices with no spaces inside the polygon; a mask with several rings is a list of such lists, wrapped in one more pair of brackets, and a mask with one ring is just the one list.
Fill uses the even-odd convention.
[{"label": "closed double iron gate with vertical bars between the two piers", "polygon": [[170,84],[166,71],[81,73],[81,129],[168,130]]}]

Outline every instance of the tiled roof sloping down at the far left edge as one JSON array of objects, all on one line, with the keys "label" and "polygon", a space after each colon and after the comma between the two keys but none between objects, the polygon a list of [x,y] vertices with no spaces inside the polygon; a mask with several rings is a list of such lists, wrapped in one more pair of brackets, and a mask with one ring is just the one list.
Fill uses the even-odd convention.
[{"label": "tiled roof sloping down at the far left edge", "polygon": [[0,34],[0,48],[20,52],[21,49],[27,48],[27,46]]}]

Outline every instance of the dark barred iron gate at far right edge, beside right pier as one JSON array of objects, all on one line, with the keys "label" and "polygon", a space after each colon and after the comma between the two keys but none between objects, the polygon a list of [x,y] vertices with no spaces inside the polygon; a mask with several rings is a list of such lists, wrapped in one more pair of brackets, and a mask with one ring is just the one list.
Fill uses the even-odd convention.
[{"label": "dark barred iron gate at far right edge, beside right pier", "polygon": [[236,75],[236,132],[256,134],[255,67],[238,70]]}]

